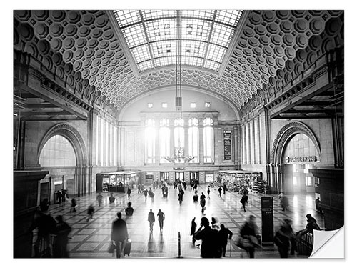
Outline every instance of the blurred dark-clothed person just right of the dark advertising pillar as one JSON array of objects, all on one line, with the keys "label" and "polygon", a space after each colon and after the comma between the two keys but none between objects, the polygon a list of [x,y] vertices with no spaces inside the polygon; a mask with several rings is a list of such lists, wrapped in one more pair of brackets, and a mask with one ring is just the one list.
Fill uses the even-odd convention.
[{"label": "blurred dark-clothed person just right of the dark advertising pillar", "polygon": [[293,234],[290,219],[283,220],[280,229],[278,229],[274,235],[274,243],[278,247],[281,258],[288,257],[289,249],[291,250],[291,254],[293,254],[295,248],[295,234]]}]

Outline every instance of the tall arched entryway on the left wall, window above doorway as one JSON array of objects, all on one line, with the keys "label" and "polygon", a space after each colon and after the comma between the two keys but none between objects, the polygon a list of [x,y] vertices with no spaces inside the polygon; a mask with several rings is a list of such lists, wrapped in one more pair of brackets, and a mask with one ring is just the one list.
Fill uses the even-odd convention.
[{"label": "tall arched entryway on the left wall, window above doorway", "polygon": [[[81,134],[69,124],[56,124],[46,132],[38,147],[37,159],[49,170],[50,200],[56,202],[56,191],[66,189],[69,197],[89,192],[90,174]],[[54,158],[56,161],[54,161]]]}]

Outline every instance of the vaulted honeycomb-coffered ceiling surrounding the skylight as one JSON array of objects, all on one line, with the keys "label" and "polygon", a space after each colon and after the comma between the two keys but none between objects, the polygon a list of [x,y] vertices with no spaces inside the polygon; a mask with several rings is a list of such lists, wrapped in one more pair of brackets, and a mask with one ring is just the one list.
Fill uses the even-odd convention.
[{"label": "vaulted honeycomb-coffered ceiling surrounding the skylight", "polygon": [[[145,12],[141,11],[141,16]],[[176,79],[172,61],[154,63],[157,51],[151,51],[154,56],[148,58],[150,66],[140,65],[145,60],[135,58],[132,51],[135,46],[131,46],[132,39],[124,31],[123,24],[118,23],[118,14],[120,11],[14,11],[14,49],[32,54],[47,69],[56,70],[59,76],[67,76],[66,79],[79,91],[91,86],[92,99],[96,102],[105,100],[120,111],[141,94],[174,86]],[[343,16],[341,14],[343,11],[243,11],[238,14],[237,23],[233,22],[235,29],[231,31],[229,41],[219,46],[225,47],[224,53],[215,60],[219,65],[204,64],[208,62],[208,46],[217,46],[215,41],[198,42],[196,49],[207,46],[199,52],[206,58],[196,56],[192,57],[194,60],[182,61],[182,84],[218,94],[240,109],[254,94],[265,90],[266,84],[286,69],[286,64],[297,61],[306,68],[308,61],[313,62],[318,55],[311,56],[309,51],[313,51],[314,46],[323,45],[323,33],[332,39],[341,34],[343,29],[338,21]],[[193,27],[203,27],[211,37],[214,24],[221,25],[212,18],[192,14],[187,18],[193,19]],[[200,24],[201,20],[205,23]],[[133,32],[132,38],[135,36]],[[149,37],[143,40],[147,49],[153,47]],[[225,41],[225,37],[220,40]],[[164,37],[160,41],[165,42]],[[195,44],[191,47],[191,43],[186,51],[189,56],[193,56],[190,49],[195,49]],[[306,54],[302,58],[301,51]],[[166,53],[166,56],[169,55]],[[156,55],[156,58],[159,57]],[[64,71],[56,69],[63,65],[66,66]]]}]

